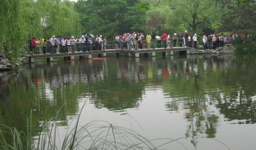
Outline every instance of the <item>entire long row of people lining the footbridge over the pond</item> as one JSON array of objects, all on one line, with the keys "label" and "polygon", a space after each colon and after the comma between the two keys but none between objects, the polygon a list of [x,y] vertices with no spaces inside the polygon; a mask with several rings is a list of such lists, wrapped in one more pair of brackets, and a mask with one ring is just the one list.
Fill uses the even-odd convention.
[{"label": "entire long row of people lining the footbridge over the pond", "polygon": [[[237,33],[232,35],[224,35],[220,33],[204,35],[202,37],[204,50],[216,49],[217,47],[222,47],[226,43],[231,43],[235,37],[238,37]],[[156,47],[159,49],[161,47],[171,48],[171,47],[193,47],[197,49],[198,40],[197,34],[194,33],[191,38],[187,30],[184,33],[179,32],[169,35],[164,33],[161,36],[155,36],[152,38],[150,33],[145,36],[143,33],[133,32],[124,33],[123,35],[116,35],[114,37],[114,44],[111,45],[111,49],[126,49],[126,50],[138,50],[138,49],[151,49],[152,40],[156,40]],[[163,42],[163,44],[162,44]],[[30,52],[33,54],[39,54],[42,50],[44,54],[46,53],[70,53],[70,52],[89,52],[92,50],[106,50],[107,43],[106,37],[103,38],[102,35],[82,35],[80,38],[75,38],[74,36],[52,36],[48,39],[37,39],[32,38],[29,40]],[[164,46],[161,46],[164,45]]]}]

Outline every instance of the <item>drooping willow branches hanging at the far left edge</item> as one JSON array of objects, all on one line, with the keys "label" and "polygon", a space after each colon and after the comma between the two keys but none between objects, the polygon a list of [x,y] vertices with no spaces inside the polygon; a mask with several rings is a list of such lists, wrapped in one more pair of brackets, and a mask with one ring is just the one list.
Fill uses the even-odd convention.
[{"label": "drooping willow branches hanging at the far left edge", "polygon": [[19,57],[18,47],[23,43],[22,2],[20,0],[2,0],[0,5],[0,50],[5,50],[11,62]]}]

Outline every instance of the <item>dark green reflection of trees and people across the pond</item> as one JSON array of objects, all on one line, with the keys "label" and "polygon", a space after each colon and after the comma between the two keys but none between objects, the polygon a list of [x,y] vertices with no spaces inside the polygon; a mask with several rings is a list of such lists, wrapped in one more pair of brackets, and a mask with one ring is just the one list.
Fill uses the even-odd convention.
[{"label": "dark green reflection of trees and people across the pond", "polygon": [[[251,56],[111,58],[36,65],[0,79],[0,121],[26,130],[31,109],[35,134],[42,120],[60,111],[60,125],[77,114],[79,101],[92,96],[95,108],[139,108],[146,91],[163,89],[165,108],[187,121],[185,135],[214,138],[220,115],[237,124],[256,121],[256,70]],[[107,90],[110,92],[93,92]]]}]

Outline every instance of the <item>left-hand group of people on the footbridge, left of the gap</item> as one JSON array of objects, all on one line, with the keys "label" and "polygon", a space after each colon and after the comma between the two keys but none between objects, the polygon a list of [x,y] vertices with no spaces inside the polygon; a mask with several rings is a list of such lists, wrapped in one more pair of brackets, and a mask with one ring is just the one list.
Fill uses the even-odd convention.
[{"label": "left-hand group of people on the footbridge, left of the gap", "polygon": [[33,37],[30,40],[30,52],[39,54],[42,47],[43,53],[70,53],[70,52],[86,52],[91,50],[106,50],[107,40],[102,35],[87,36],[82,35],[80,38],[74,36],[52,36],[48,39],[37,39]]}]

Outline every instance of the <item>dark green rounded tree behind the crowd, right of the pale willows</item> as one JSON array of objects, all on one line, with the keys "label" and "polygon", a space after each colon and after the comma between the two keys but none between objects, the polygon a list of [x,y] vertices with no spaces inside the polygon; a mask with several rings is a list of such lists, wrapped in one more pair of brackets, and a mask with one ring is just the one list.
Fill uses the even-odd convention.
[{"label": "dark green rounded tree behind the crowd, right of the pale willows", "polygon": [[139,10],[138,1],[79,0],[75,6],[87,35],[113,38],[116,34],[145,30],[145,10]]}]

